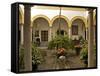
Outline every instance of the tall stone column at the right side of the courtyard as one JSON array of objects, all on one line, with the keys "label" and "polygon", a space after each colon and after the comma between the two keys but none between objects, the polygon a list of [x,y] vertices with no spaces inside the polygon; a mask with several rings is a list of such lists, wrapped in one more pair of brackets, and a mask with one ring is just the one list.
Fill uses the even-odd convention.
[{"label": "tall stone column at the right side of the courtyard", "polygon": [[89,11],[89,38],[88,38],[88,67],[94,67],[94,29],[93,29],[93,9]]}]

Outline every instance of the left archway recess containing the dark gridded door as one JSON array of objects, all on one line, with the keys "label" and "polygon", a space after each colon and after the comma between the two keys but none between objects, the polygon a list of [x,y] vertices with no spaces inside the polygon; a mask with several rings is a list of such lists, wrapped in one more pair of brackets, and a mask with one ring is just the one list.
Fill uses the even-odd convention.
[{"label": "left archway recess containing the dark gridded door", "polygon": [[49,22],[46,18],[35,17],[32,22],[33,35],[32,39],[38,46],[45,47],[49,40]]}]

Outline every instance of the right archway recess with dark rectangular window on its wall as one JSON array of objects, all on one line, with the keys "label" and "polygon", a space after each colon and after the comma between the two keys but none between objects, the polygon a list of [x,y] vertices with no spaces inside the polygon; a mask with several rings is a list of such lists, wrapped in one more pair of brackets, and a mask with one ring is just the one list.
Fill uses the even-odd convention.
[{"label": "right archway recess with dark rectangular window on its wall", "polygon": [[83,37],[86,39],[86,23],[81,18],[73,18],[71,23],[72,39],[79,39]]}]

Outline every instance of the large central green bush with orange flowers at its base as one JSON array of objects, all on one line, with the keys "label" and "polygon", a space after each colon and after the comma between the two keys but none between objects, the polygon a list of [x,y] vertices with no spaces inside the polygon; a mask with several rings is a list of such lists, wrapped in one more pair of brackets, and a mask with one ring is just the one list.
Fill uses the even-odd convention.
[{"label": "large central green bush with orange flowers at its base", "polygon": [[67,35],[57,35],[49,42],[48,48],[55,49],[57,58],[59,58],[62,55],[67,56],[68,51],[74,49],[74,45],[72,39],[69,39]]}]

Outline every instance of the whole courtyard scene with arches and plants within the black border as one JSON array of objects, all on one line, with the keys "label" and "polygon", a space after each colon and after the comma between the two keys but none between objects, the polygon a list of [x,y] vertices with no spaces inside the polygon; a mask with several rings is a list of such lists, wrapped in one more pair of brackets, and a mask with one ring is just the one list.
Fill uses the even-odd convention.
[{"label": "whole courtyard scene with arches and plants within the black border", "polygon": [[96,67],[96,9],[19,6],[19,70]]}]

